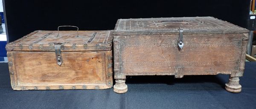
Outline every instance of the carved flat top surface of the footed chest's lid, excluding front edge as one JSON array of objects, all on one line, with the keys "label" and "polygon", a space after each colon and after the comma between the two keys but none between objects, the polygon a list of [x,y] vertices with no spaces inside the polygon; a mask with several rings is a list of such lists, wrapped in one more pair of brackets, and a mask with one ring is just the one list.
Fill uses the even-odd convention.
[{"label": "carved flat top surface of the footed chest's lid, excluding front edge", "polygon": [[178,26],[183,29],[239,29],[238,26],[213,17],[172,17],[120,19],[116,30],[176,30]]}]

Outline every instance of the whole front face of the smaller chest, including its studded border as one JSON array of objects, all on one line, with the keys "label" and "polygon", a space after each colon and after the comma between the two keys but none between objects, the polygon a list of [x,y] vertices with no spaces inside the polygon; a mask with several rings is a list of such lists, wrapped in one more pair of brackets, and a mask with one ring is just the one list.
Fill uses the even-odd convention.
[{"label": "whole front face of the smaller chest, including its studded border", "polygon": [[[55,52],[8,52],[12,85],[25,89],[106,89],[112,85],[108,73],[112,51],[61,52],[63,63],[56,63]],[[24,88],[23,88],[24,87]],[[61,88],[60,88],[61,87]],[[23,88],[23,89],[22,89]]]}]

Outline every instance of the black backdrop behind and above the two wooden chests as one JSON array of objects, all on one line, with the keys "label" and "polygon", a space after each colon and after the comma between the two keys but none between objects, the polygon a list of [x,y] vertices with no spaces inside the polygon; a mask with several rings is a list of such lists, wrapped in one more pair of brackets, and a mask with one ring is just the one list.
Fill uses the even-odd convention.
[{"label": "black backdrop behind and above the two wooden chests", "polygon": [[9,42],[61,25],[114,29],[119,18],[212,16],[247,27],[250,0],[4,0]]}]

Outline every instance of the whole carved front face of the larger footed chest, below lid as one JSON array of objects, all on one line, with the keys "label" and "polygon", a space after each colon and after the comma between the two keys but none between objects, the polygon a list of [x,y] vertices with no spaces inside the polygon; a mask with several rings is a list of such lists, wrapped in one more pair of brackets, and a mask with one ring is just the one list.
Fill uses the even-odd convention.
[{"label": "whole carved front face of the larger footed chest, below lid", "polygon": [[115,36],[115,66],[126,75],[230,74],[239,70],[242,39],[224,35],[184,34],[183,49],[177,46],[178,35]]}]

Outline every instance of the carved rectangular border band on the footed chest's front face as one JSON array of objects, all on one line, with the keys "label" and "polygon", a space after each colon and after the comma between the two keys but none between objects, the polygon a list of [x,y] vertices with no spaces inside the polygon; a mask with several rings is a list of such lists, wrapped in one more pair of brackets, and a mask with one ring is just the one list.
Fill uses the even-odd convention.
[{"label": "carved rectangular border band on the footed chest's front face", "polygon": [[241,39],[222,39],[222,40],[186,40],[185,46],[205,47],[205,46],[235,46],[235,59],[229,61],[220,62],[195,62],[195,61],[160,61],[160,62],[127,62],[123,54],[127,54],[126,48],[150,48],[150,47],[177,47],[177,40],[163,40],[158,43],[158,40],[120,40],[119,41],[119,67],[123,69],[129,68],[151,68],[157,66],[157,68],[177,68],[177,66],[185,67],[200,67],[202,65],[211,66],[213,64],[221,65],[236,65],[235,69],[239,69],[240,56],[241,56]]}]

